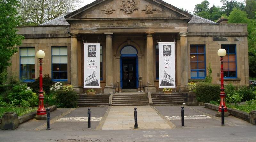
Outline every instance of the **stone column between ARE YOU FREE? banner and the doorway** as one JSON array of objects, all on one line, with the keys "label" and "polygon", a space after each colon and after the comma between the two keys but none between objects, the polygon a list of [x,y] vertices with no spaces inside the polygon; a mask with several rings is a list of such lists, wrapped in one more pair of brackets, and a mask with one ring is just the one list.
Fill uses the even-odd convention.
[{"label": "stone column between ARE YOU FREE? banner and the doorway", "polygon": [[113,33],[105,33],[106,34],[106,86],[104,88],[104,94],[108,94],[110,92],[115,93],[115,90],[112,90],[111,83],[113,82],[113,47],[112,47],[112,34]]}]

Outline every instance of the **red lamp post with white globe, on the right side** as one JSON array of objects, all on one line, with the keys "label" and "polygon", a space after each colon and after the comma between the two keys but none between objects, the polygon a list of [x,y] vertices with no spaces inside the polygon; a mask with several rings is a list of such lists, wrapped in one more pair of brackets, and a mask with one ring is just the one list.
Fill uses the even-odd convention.
[{"label": "red lamp post with white globe, on the right side", "polygon": [[223,79],[223,57],[226,56],[226,50],[225,49],[219,49],[218,50],[218,56],[220,56],[220,82],[221,82],[221,88],[220,88],[220,106],[219,106],[219,110],[217,111],[216,115],[217,117],[221,116],[221,106],[224,106],[224,115],[225,116],[229,116],[227,107],[226,107],[226,103],[225,103],[225,88],[224,88],[224,79]]}]

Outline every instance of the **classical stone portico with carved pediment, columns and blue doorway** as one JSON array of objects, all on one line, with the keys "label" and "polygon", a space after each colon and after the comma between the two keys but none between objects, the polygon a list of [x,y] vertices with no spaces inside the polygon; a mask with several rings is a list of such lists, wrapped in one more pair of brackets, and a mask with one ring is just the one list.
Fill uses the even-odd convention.
[{"label": "classical stone portico with carved pediment, columns and blue doorway", "polygon": [[[130,2],[137,6],[125,8]],[[83,42],[95,43],[100,38],[104,74],[100,86],[105,94],[113,92],[112,83],[116,88],[125,88],[124,74],[130,77],[127,79],[130,84],[134,81],[132,87],[139,88],[141,77],[144,91],[156,92],[159,81],[156,45],[160,38],[164,42],[176,43],[176,84],[183,91],[188,83],[186,36],[187,22],[191,17],[187,12],[158,0],[97,0],[66,15],[71,35],[71,84],[77,88],[83,86],[84,80],[79,79],[83,78],[83,73],[79,76],[79,72],[84,71]],[[121,54],[124,47],[133,48],[136,52]],[[128,73],[124,68],[129,69]]]}]

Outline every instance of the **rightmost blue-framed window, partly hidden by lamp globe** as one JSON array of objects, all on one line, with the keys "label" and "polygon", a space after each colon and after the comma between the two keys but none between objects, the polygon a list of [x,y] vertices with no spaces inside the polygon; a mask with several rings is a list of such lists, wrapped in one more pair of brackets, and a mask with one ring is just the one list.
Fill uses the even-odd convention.
[{"label": "rightmost blue-framed window, partly hidden by lamp globe", "polygon": [[227,54],[223,57],[224,78],[236,78],[236,45],[221,45]]}]

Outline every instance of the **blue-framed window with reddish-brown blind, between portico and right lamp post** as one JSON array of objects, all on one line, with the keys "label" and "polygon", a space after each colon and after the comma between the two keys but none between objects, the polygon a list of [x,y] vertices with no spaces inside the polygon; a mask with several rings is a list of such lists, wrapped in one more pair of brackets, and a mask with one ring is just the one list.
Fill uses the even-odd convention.
[{"label": "blue-framed window with reddish-brown blind, between portico and right lamp post", "polygon": [[190,45],[190,68],[191,79],[205,78],[205,45]]}]

